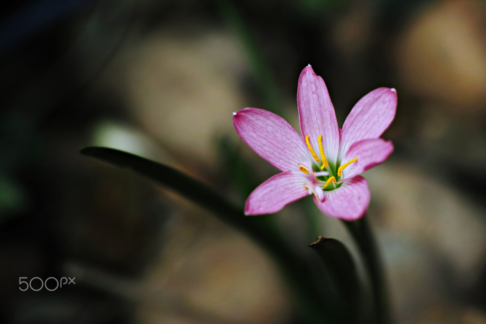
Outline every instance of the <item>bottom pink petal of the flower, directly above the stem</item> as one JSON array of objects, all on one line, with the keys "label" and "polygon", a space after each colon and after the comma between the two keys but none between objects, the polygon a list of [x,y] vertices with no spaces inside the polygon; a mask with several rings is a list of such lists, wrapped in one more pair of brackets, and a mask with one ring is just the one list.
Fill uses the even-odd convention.
[{"label": "bottom pink petal of the flower, directly above the stem", "polygon": [[324,192],[324,200],[314,202],[324,214],[345,220],[361,218],[368,208],[370,193],[362,176],[346,180],[337,189]]}]

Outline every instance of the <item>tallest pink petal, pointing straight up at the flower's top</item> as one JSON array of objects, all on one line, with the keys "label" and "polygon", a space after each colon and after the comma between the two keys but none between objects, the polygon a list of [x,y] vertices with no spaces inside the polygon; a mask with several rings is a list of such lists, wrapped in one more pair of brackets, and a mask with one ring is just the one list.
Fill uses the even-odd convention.
[{"label": "tallest pink petal, pointing straight up at the flower's top", "polygon": [[324,80],[308,65],[300,73],[297,86],[300,131],[309,141],[318,156],[317,138],[322,135],[322,148],[328,162],[335,163],[339,151],[339,131],[334,106],[332,106]]}]

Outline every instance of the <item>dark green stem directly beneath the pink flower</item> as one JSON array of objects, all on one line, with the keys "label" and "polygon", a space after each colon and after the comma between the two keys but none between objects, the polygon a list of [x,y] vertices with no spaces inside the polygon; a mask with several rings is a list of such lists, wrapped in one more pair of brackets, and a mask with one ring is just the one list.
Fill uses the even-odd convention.
[{"label": "dark green stem directly beneath the pink flower", "polygon": [[368,271],[373,293],[375,321],[377,324],[390,324],[391,315],[386,299],[385,280],[382,263],[373,233],[366,215],[355,221],[343,221],[353,236]]}]

